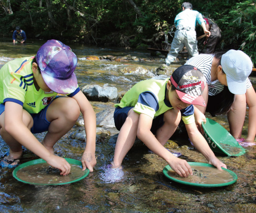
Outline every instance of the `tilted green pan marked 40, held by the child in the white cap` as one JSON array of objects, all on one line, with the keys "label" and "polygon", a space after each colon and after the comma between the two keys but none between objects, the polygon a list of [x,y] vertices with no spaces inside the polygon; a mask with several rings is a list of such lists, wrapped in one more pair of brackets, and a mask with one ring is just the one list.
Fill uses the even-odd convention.
[{"label": "tilted green pan marked 40, held by the child in the white cap", "polygon": [[202,122],[202,127],[204,129],[203,136],[213,152],[227,156],[241,156],[246,153],[246,149],[223,126],[214,120],[206,118],[206,124]]}]

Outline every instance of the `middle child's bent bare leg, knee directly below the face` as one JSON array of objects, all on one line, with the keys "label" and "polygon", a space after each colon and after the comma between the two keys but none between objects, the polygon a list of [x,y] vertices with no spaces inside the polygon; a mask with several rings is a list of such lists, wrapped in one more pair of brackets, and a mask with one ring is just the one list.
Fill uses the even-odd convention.
[{"label": "middle child's bent bare leg, knee directly below the face", "polygon": [[180,120],[181,113],[178,110],[170,109],[164,113],[164,124],[158,129],[156,133],[156,138],[161,145],[164,145],[173,135],[180,123]]}]

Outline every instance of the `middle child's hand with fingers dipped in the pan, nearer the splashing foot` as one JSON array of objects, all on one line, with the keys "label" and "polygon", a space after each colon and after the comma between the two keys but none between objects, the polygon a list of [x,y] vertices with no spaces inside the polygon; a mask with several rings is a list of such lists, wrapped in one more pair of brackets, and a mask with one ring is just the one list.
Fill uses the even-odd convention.
[{"label": "middle child's hand with fingers dipped in the pan, nearer the splashing foot", "polygon": [[181,177],[188,177],[189,174],[193,175],[191,166],[186,160],[178,159],[176,157],[172,158],[169,163],[170,167],[177,172]]}]

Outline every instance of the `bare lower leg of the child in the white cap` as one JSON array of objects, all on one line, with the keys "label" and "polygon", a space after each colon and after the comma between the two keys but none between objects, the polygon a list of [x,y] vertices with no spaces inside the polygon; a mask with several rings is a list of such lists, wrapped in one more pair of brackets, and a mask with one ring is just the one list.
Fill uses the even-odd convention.
[{"label": "bare lower leg of the child in the white cap", "polygon": [[243,130],[246,113],[246,96],[236,95],[231,110],[227,113],[230,134],[234,138],[240,138]]}]

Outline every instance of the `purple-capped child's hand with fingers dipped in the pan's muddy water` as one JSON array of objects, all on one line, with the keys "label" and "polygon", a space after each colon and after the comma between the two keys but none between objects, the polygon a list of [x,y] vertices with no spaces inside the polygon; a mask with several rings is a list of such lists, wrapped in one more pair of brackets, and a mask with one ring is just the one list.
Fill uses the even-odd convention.
[{"label": "purple-capped child's hand with fingers dipped in the pan's muddy water", "polygon": [[71,166],[64,158],[52,155],[47,163],[55,168],[60,169],[61,175],[68,175],[70,173]]}]

